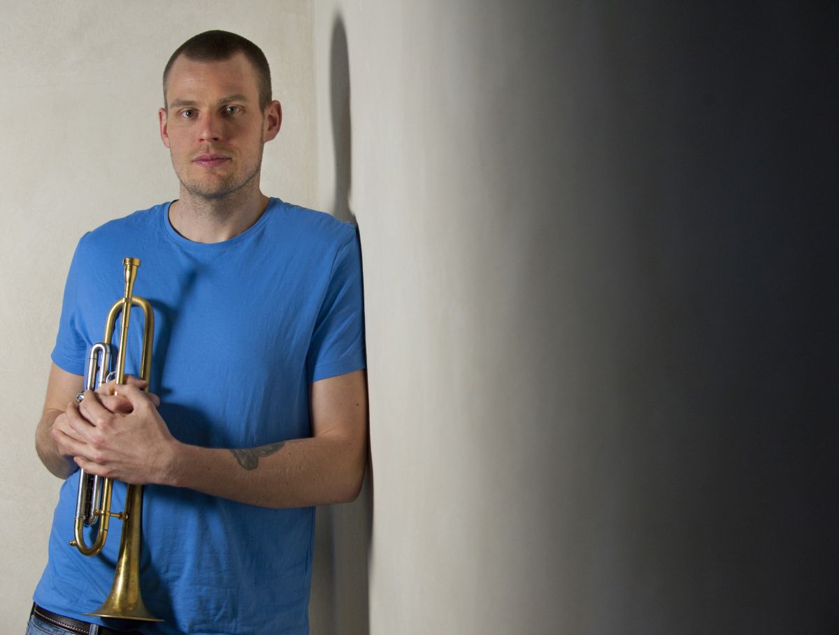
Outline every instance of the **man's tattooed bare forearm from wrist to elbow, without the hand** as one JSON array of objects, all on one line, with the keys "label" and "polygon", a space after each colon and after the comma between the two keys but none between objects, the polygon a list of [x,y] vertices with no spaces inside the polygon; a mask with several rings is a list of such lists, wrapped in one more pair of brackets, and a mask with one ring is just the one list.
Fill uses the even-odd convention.
[{"label": "man's tattooed bare forearm from wrist to elbow, without the hand", "polygon": [[304,507],[354,500],[367,445],[338,435],[242,450],[179,444],[164,484],[261,507]]}]

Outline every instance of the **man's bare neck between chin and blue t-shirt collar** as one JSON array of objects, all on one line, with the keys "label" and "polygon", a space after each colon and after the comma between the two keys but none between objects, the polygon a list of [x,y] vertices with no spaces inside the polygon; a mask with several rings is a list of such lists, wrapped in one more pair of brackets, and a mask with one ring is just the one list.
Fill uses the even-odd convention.
[{"label": "man's bare neck between chin and blue t-shirt collar", "polygon": [[221,199],[205,199],[181,186],[180,199],[169,206],[169,222],[175,232],[193,242],[230,240],[253,226],[268,207],[268,196],[261,191],[242,190]]}]

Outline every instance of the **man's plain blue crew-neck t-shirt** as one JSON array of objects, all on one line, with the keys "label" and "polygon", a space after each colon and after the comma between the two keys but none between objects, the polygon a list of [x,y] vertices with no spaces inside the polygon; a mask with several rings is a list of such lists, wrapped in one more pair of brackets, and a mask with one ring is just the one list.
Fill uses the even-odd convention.
[{"label": "man's plain blue crew-neck t-shirt", "polygon": [[[87,351],[122,298],[122,258],[140,258],[134,294],[154,309],[151,390],[175,438],[249,448],[310,436],[310,384],[365,365],[355,227],[272,199],[248,231],[203,244],[175,232],[168,211],[168,203],[138,211],[81,238],[53,361],[85,373]],[[129,325],[126,372],[137,374],[141,311]],[[122,523],[112,519],[99,555],[70,547],[78,479],[76,471],[60,489],[34,601],[106,623],[83,614],[111,588]],[[113,511],[124,497],[117,482]],[[107,623],[148,633],[306,633],[314,521],[314,507],[147,486],[140,579],[146,606],[165,622]]]}]

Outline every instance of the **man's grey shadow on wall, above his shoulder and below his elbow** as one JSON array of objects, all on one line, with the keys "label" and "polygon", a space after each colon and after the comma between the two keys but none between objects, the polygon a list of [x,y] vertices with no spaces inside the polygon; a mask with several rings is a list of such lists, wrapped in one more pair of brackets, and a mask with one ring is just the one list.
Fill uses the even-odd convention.
[{"label": "man's grey shadow on wall, above his shoulder and below his elbow", "polygon": [[[335,143],[335,202],[332,216],[355,222],[349,205],[352,185],[350,65],[347,30],[340,15],[332,24],[330,50],[332,139]],[[309,606],[311,635],[367,635],[367,561],[373,531],[372,471],[367,470],[356,502],[319,507]]]}]

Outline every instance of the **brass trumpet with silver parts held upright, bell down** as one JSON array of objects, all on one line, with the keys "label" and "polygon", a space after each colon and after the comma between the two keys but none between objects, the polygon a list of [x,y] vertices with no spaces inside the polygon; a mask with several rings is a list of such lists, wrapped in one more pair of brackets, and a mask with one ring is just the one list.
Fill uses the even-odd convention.
[{"label": "brass trumpet with silver parts held upright, bell down", "polygon": [[[118,299],[108,312],[105,323],[105,336],[101,342],[91,348],[87,362],[87,376],[85,388],[96,390],[100,384],[116,377],[117,384],[125,383],[125,348],[128,341],[128,321],[131,307],[136,305],[143,310],[143,351],[140,360],[141,379],[149,380],[152,365],[152,338],[154,337],[154,312],[151,304],[145,298],[133,294],[134,279],[140,266],[138,258],[124,258],[125,295]],[[108,372],[111,363],[111,338],[117,324],[117,317],[122,314],[119,331],[119,349],[117,350],[117,368]],[[81,400],[81,394],[78,398]],[[107,539],[108,523],[111,517],[122,520],[122,536],[119,541],[119,555],[117,568],[114,573],[113,585],[107,599],[95,612],[86,613],[97,617],[119,617],[129,620],[143,620],[146,622],[163,622],[154,617],[143,604],[140,595],[140,523],[143,518],[143,486],[128,485],[125,495],[125,509],[119,513],[111,511],[112,480],[87,474],[81,470],[79,475],[79,494],[76,498],[75,539],[70,545],[79,549],[83,555],[96,555],[102,551]],[[82,531],[85,525],[99,523],[96,540],[88,546]]]}]

